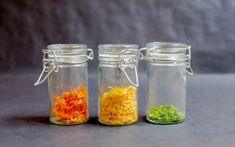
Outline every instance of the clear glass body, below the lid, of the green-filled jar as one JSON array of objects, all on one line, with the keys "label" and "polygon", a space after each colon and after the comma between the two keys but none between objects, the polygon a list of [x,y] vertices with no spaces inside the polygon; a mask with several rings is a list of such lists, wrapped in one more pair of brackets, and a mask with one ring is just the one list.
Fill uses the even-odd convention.
[{"label": "clear glass body, below the lid, of the green-filled jar", "polygon": [[182,64],[157,64],[148,66],[147,116],[157,124],[180,123],[185,119],[186,66]]}]

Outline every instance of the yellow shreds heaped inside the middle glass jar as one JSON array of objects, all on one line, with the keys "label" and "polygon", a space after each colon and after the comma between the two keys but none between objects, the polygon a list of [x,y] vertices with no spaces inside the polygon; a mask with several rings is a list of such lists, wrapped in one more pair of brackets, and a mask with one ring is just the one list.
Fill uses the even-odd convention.
[{"label": "yellow shreds heaped inside the middle glass jar", "polygon": [[136,87],[110,87],[107,92],[101,94],[99,120],[108,125],[136,122]]}]

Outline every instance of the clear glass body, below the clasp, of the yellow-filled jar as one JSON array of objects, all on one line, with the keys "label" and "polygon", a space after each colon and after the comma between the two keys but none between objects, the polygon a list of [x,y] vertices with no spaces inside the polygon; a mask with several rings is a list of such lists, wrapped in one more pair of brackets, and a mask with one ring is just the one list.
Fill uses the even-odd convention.
[{"label": "clear glass body, below the clasp, of the yellow-filled jar", "polygon": [[[134,76],[134,73],[129,73]],[[115,66],[99,65],[99,121],[105,125],[128,125],[138,119],[137,87]]]}]

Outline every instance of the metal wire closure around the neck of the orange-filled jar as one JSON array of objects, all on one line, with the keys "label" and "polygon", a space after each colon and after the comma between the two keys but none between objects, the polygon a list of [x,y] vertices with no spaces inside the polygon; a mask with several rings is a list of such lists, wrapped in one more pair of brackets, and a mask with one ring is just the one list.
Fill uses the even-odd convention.
[{"label": "metal wire closure around the neck of the orange-filled jar", "polygon": [[[76,60],[75,63],[83,63],[87,60],[93,60],[94,58],[94,52],[92,49],[87,49],[87,51],[89,51],[90,53],[88,55],[86,55],[86,59],[83,61],[79,61]],[[43,83],[47,77],[54,71],[54,72],[58,72],[58,56],[56,55],[56,52],[53,50],[48,50],[48,49],[42,49],[43,52],[43,69],[41,74],[38,77],[38,80],[34,83],[34,86],[38,86],[41,83]],[[66,54],[66,53],[65,53]],[[52,57],[49,57],[50,55],[52,55]],[[63,61],[65,63],[71,63],[71,62],[66,62]],[[72,62],[73,64],[75,64],[74,62]],[[43,77],[43,75],[45,74],[45,76]]]}]

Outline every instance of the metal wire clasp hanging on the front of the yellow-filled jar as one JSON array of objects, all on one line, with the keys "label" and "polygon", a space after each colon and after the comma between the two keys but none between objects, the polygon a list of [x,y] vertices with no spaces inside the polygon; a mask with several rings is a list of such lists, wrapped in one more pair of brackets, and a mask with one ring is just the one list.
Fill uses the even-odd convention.
[{"label": "metal wire clasp hanging on the front of the yellow-filled jar", "polygon": [[[129,53],[131,50],[125,49],[125,50],[121,50],[118,54],[118,61],[117,61],[117,68],[119,69],[119,71],[123,72],[127,78],[127,80],[134,86],[138,87],[139,86],[139,79],[138,79],[138,72],[137,72],[137,66],[136,64],[138,63],[138,57],[127,57],[125,59],[121,59],[121,55],[125,54],[125,53]],[[132,63],[132,64],[131,64]],[[134,63],[134,65],[133,65]],[[126,66],[125,64],[130,64],[128,66]],[[135,72],[135,81],[133,82],[130,78],[130,76],[127,74],[127,72],[125,71],[126,68],[129,67],[131,69],[134,68],[134,72]]]}]

